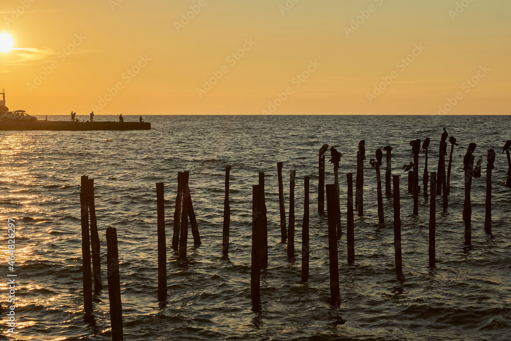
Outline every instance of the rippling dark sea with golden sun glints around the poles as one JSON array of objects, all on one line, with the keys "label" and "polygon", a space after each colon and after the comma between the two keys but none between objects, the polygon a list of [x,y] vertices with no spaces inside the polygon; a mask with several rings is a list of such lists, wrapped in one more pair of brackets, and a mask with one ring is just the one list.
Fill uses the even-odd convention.
[{"label": "rippling dark sea with golden sun glints around the poles", "polygon": [[[53,116],[49,120],[67,120]],[[95,120],[115,120],[97,116]],[[126,121],[137,117],[126,116]],[[109,340],[108,291],[83,314],[80,176],[95,179],[102,261],[105,230],[117,228],[126,340],[509,340],[511,339],[511,189],[503,187],[505,154],[493,171],[493,236],[484,234],[485,167],[472,186],[472,247],[464,247],[462,158],[477,143],[476,159],[511,139],[509,117],[424,116],[153,116],[148,131],[1,131],[0,302],[8,285],[7,218],[16,220],[16,326],[0,339]],[[437,267],[428,268],[429,199],[419,216],[401,179],[404,279],[394,271],[392,199],[384,197],[378,224],[376,175],[366,162],[363,217],[355,217],[355,264],[346,262],[346,172],[356,151],[389,144],[394,174],[412,161],[410,140],[431,138],[435,171],[442,128],[457,138],[449,209],[437,200]],[[317,213],[317,152],[323,143],[342,152],[339,239],[341,305],[329,306],[328,224]],[[436,158],[436,162],[435,162]],[[327,158],[328,160],[328,158]],[[286,211],[289,171],[296,170],[296,262],[281,244],[276,163],[284,162]],[[225,166],[230,177],[230,252],[222,256]],[[327,163],[326,183],[333,183]],[[189,239],[188,259],[172,251],[177,172],[190,171],[202,245]],[[424,154],[420,156],[420,174]],[[250,303],[251,185],[266,176],[269,265],[262,271],[262,309]],[[303,179],[311,176],[310,279],[300,278]],[[384,179],[384,176],[383,176]],[[168,305],[157,302],[155,183],[165,182]],[[421,182],[422,184],[422,182]],[[384,186],[384,185],[383,185]],[[106,287],[106,264],[103,264]]]}]

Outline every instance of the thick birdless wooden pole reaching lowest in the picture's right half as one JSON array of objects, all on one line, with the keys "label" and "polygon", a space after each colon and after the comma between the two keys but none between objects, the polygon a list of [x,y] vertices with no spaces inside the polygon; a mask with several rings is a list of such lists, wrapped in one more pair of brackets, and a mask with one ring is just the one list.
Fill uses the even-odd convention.
[{"label": "thick birdless wooden pole reaching lowest in the picture's right half", "polygon": [[339,261],[337,258],[336,215],[337,200],[335,185],[327,185],[327,213],[328,213],[328,251],[330,260],[330,304],[336,308],[340,304],[339,291]]}]

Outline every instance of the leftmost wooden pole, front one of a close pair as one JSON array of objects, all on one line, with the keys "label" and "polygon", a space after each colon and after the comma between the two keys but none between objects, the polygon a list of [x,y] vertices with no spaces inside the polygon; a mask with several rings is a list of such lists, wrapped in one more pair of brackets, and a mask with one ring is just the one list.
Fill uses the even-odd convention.
[{"label": "leftmost wooden pole, front one of a close pair", "polygon": [[[83,181],[82,177],[82,181]],[[87,179],[85,179],[87,181]],[[83,184],[83,182],[82,182]],[[82,187],[83,188],[83,187]],[[89,242],[89,212],[87,193],[80,192],[81,226],[82,226],[82,270],[83,270],[83,310],[92,312],[92,279],[90,274],[90,242]]]}]

